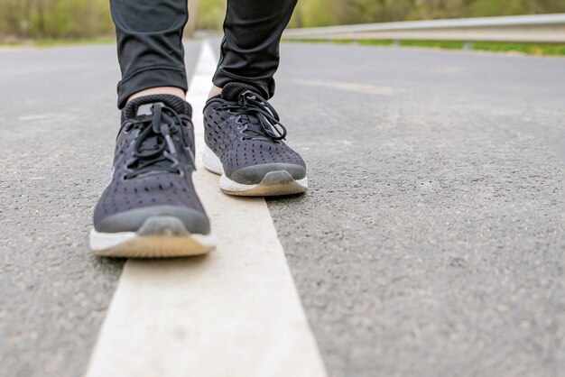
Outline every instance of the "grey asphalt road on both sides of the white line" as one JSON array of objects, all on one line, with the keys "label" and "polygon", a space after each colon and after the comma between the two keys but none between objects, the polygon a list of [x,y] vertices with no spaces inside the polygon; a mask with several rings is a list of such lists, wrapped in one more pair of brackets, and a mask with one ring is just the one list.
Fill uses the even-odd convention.
[{"label": "grey asphalt road on both sides of the white line", "polygon": [[[118,77],[0,52],[0,375],[85,371]],[[292,43],[277,78],[311,189],[268,204],[330,375],[564,375],[565,60]]]}]

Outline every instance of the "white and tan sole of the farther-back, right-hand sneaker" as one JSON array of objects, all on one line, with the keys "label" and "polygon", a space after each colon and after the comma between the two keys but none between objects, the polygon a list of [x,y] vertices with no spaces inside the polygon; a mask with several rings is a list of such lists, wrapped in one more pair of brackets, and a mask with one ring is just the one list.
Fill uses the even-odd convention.
[{"label": "white and tan sole of the farther-back, right-hand sneaker", "polygon": [[240,197],[274,197],[302,194],[308,191],[308,178],[293,179],[285,170],[270,171],[264,179],[255,185],[245,185],[227,178],[222,162],[208,145],[204,145],[202,161],[206,170],[220,175],[219,188],[228,195]]}]

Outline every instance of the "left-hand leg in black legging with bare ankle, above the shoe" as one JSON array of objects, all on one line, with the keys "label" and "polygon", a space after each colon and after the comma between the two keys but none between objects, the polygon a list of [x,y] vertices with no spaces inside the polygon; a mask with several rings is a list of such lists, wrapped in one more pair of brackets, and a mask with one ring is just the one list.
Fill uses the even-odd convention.
[{"label": "left-hand leg in black legging with bare ankle, above the shoe", "polygon": [[111,0],[110,5],[122,70],[118,107],[149,94],[183,97],[188,89],[182,47],[187,0]]}]

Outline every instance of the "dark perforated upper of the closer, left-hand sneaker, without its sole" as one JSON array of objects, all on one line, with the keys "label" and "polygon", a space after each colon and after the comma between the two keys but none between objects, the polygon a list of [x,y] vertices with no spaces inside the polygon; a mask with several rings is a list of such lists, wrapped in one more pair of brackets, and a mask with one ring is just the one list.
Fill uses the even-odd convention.
[{"label": "dark perforated upper of the closer, left-hand sneaker, without its sole", "polygon": [[[149,207],[175,208],[175,214],[179,208],[187,213],[198,212],[208,222],[191,180],[194,129],[190,115],[190,105],[174,96],[141,97],[125,106],[112,181],[94,212],[98,232],[134,231],[108,226],[124,224],[123,219],[112,220],[117,215],[139,216],[139,208]],[[161,211],[158,215],[167,213]],[[207,226],[201,225],[199,230],[208,233]]]}]

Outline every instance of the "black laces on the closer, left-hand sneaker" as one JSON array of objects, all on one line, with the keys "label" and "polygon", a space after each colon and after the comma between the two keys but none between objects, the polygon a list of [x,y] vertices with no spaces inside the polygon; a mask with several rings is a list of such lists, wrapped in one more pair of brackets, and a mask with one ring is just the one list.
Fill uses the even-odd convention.
[{"label": "black laces on the closer, left-hand sneaker", "polygon": [[192,167],[195,167],[194,155],[181,130],[181,124],[190,124],[189,116],[179,115],[171,107],[162,104],[153,104],[152,111],[153,115],[125,124],[127,131],[133,128],[141,130],[134,141],[133,157],[127,161],[125,179],[163,171],[182,175],[180,156],[172,142],[172,134],[180,137]]}]

